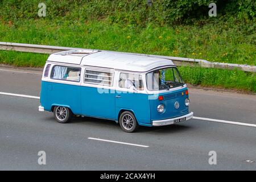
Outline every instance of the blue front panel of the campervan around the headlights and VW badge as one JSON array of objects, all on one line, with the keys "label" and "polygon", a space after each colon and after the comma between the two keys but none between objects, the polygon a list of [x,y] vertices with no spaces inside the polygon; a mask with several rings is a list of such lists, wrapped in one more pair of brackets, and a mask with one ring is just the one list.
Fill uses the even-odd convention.
[{"label": "blue front panel of the campervan around the headlights and VW badge", "polygon": [[[188,98],[188,96],[185,95],[185,90],[187,90],[187,88],[160,94],[160,96],[164,97],[163,101],[159,101],[158,97],[156,97],[155,100],[150,100],[151,119],[161,120],[188,114],[188,106],[185,106],[185,98]],[[180,105],[178,109],[175,109],[174,106],[176,101],[178,101]],[[163,113],[157,111],[159,104],[164,105]]]}]

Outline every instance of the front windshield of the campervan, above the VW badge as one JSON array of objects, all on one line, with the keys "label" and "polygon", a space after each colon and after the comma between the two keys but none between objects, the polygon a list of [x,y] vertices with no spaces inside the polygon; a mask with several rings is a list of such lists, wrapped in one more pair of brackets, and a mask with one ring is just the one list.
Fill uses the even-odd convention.
[{"label": "front windshield of the campervan, above the VW badge", "polygon": [[146,75],[147,89],[150,91],[171,89],[184,85],[176,67],[157,69]]}]

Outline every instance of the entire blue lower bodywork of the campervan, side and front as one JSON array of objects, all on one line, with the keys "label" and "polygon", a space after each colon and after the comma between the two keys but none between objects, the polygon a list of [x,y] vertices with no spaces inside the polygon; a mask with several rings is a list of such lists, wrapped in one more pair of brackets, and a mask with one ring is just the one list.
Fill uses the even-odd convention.
[{"label": "entire blue lower bodywork of the campervan, side and front", "polygon": [[[42,81],[40,102],[44,110],[52,111],[53,106],[69,107],[73,114],[89,117],[118,120],[121,110],[130,110],[134,113],[139,125],[152,126],[152,121],[179,117],[188,114],[185,106],[185,90],[166,92],[163,101],[158,97],[148,99],[148,94],[143,93],[119,93],[115,90],[105,90],[100,93],[98,88],[56,82]],[[181,94],[183,93],[183,95]],[[117,98],[116,96],[121,96]],[[174,104],[178,101],[179,109]],[[157,106],[164,105],[164,113],[158,113]]]}]

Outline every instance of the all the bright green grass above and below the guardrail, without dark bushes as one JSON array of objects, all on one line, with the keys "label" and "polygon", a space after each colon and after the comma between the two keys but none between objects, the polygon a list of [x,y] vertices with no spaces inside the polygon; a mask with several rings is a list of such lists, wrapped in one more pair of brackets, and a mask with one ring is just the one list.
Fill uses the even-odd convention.
[{"label": "all the bright green grass above and below the guardrail, without dark bushes", "polygon": [[[0,41],[51,46],[105,49],[155,55],[190,57],[256,65],[255,19],[241,22],[212,20],[203,24],[144,26],[102,20],[1,20]],[[0,63],[43,67],[48,55],[0,51]],[[208,68],[179,68],[185,82],[256,93],[255,73]]]}]

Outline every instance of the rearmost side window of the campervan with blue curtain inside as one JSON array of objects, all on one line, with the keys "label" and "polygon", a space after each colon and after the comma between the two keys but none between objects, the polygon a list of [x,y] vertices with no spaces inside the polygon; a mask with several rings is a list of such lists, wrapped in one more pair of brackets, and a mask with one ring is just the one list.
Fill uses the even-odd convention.
[{"label": "rearmost side window of the campervan with blue curtain inside", "polygon": [[64,67],[56,65],[52,68],[52,79],[67,80],[67,81],[80,81],[81,68]]}]

